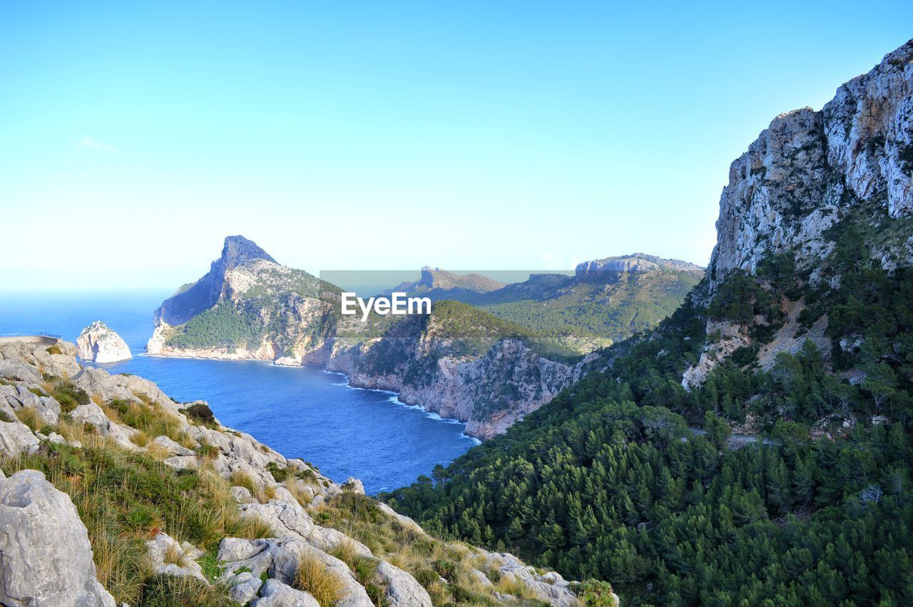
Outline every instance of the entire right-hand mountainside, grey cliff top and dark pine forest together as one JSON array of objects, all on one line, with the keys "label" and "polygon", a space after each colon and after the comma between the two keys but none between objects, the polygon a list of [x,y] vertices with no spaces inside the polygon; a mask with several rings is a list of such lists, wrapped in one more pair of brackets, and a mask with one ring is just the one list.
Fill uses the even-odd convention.
[{"label": "entire right-hand mountainside, grey cliff top and dark pine forest together", "polygon": [[913,40],[733,162],[708,276],[436,484],[428,529],[625,604],[907,604]]}]

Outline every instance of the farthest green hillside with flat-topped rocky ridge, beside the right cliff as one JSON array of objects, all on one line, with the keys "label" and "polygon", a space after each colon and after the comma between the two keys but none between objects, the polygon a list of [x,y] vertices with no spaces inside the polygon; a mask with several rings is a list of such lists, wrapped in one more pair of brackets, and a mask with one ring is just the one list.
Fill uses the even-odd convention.
[{"label": "farthest green hillside with flat-topped rocky ridge, beside the right cliff", "polygon": [[703,275],[702,267],[687,262],[635,253],[583,262],[573,276],[532,274],[500,288],[427,288],[432,283],[424,275],[400,288],[462,301],[585,354],[656,327]]}]

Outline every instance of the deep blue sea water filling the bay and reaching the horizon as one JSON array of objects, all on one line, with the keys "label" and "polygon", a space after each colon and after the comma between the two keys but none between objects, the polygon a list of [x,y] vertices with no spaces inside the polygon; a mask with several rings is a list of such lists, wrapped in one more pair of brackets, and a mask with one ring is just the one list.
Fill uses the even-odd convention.
[{"label": "deep blue sea water filling the bay and reaching the horizon", "polygon": [[98,366],[150,379],[179,402],[203,399],[223,424],[312,462],[333,480],[361,478],[368,493],[412,483],[477,444],[464,424],[404,405],[392,392],[352,389],[345,376],[317,367],[144,355],[152,310],[169,295],[0,292],[0,334],[46,331],[75,341],[102,320],[133,358]]}]

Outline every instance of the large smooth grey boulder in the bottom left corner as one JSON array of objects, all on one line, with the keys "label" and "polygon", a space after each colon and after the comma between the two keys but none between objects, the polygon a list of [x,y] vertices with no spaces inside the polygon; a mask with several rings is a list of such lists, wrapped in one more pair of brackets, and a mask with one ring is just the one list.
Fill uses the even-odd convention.
[{"label": "large smooth grey boulder in the bottom left corner", "polygon": [[76,507],[37,470],[0,480],[0,529],[0,602],[114,607]]}]

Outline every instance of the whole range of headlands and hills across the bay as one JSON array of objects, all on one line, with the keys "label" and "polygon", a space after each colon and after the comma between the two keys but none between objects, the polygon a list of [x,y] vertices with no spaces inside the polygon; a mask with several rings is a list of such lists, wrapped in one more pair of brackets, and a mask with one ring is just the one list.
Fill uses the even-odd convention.
[{"label": "whole range of headlands and hills across the bay", "polygon": [[584,354],[655,325],[700,274],[640,254],[515,284],[425,267],[419,280],[390,292],[432,298],[430,315],[372,314],[362,322],[340,314],[340,288],[228,236],[210,271],[155,311],[147,350],[319,364],[488,438],[600,364]]}]

